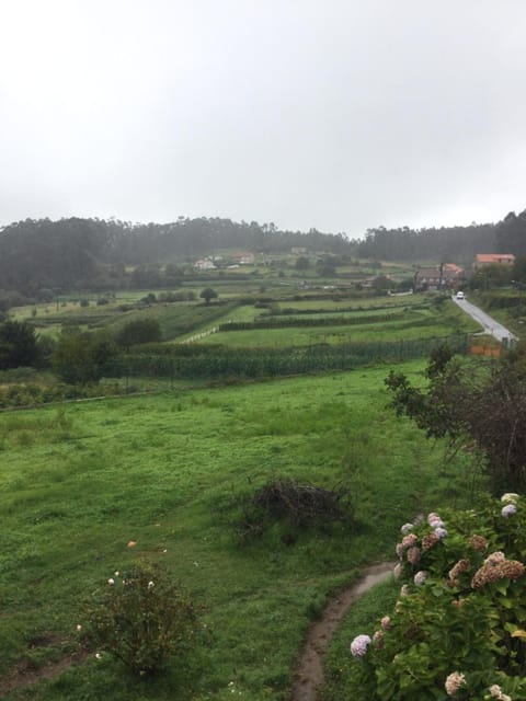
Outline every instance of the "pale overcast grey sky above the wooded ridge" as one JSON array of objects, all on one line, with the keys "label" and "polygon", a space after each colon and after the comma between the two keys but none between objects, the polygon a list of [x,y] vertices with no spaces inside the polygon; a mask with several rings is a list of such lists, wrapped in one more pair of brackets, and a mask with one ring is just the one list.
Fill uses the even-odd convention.
[{"label": "pale overcast grey sky above the wooded ridge", "polygon": [[526,0],[0,0],[0,225],[526,208]]}]

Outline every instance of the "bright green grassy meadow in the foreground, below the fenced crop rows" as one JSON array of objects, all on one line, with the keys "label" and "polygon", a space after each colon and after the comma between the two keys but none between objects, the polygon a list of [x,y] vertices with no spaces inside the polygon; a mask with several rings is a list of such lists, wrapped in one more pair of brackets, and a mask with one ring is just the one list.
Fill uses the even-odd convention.
[{"label": "bright green grassy meadow in the foreground, below the fenced crop rows", "polygon": [[[400,369],[418,379],[423,367]],[[328,597],[392,559],[401,522],[473,496],[466,459],[388,409],[389,369],[0,414],[0,694],[2,677],[75,651],[82,599],[146,561],[202,606],[207,634],[190,660],[137,681],[90,655],[3,698],[287,699]],[[241,543],[240,498],[283,476],[347,487],[354,522]]]}]

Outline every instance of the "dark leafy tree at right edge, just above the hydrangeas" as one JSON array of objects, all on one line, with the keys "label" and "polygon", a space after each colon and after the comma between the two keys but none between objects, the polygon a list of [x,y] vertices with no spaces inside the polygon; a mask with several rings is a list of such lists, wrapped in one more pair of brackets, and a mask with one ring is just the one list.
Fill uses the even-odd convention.
[{"label": "dark leafy tree at right edge, just above the hydrangeas", "polygon": [[414,420],[427,437],[471,444],[485,464],[491,489],[526,490],[526,376],[518,363],[478,367],[447,360],[442,349],[427,368],[428,384],[416,388],[391,370],[386,384],[397,414]]}]

